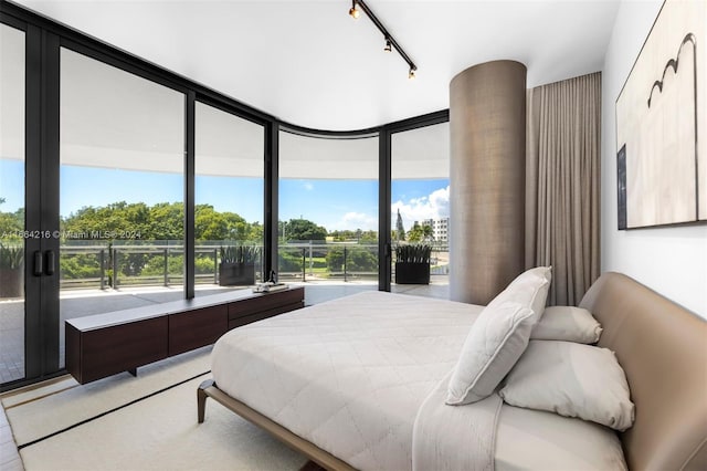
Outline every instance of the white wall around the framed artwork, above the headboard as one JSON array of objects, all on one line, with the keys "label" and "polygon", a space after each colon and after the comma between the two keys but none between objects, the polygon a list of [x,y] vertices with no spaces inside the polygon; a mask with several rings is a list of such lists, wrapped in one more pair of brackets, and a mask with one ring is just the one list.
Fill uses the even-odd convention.
[{"label": "white wall around the framed artwork, above the headboard", "polygon": [[615,101],[662,4],[623,0],[604,57],[601,268],[625,273],[707,318],[707,224],[616,230]]}]

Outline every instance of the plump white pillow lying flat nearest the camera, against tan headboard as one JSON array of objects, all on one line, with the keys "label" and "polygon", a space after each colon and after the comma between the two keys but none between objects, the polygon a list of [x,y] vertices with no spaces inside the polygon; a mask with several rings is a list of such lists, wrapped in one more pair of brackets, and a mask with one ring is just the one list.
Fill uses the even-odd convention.
[{"label": "plump white pillow lying flat nearest the camera, against tan headboard", "polygon": [[629,384],[613,352],[531,341],[498,393],[509,405],[578,417],[615,430],[633,425]]}]

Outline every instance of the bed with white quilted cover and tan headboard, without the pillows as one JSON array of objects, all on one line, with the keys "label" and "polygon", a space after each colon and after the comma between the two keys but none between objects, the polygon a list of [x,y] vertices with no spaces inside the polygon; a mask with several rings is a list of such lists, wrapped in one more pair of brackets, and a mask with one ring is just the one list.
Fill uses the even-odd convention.
[{"label": "bed with white quilted cover and tan headboard, without the pillows", "polygon": [[[707,469],[707,323],[618,273],[580,306],[625,371],[635,404],[626,431],[490,397],[445,405],[485,307],[379,292],[231,331],[198,390],[199,422],[211,397],[327,469]],[[486,418],[494,436],[469,439]],[[468,456],[471,441],[490,467]]]}]

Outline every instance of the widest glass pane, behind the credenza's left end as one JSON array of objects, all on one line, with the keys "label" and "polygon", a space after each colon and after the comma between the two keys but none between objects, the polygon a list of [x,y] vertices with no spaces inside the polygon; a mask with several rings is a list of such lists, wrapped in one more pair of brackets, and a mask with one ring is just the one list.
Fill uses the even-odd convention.
[{"label": "widest glass pane, behind the credenza's left end", "polygon": [[184,297],[186,96],[65,48],[60,59],[63,349],[66,318]]}]

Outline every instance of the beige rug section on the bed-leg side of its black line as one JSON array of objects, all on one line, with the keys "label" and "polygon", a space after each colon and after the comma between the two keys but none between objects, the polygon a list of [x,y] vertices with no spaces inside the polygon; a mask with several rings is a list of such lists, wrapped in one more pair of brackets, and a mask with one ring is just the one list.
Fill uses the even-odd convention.
[{"label": "beige rug section on the bed-leg side of its black line", "polygon": [[307,462],[214,400],[197,423],[197,387],[208,377],[21,449],[25,470],[296,471]]}]

